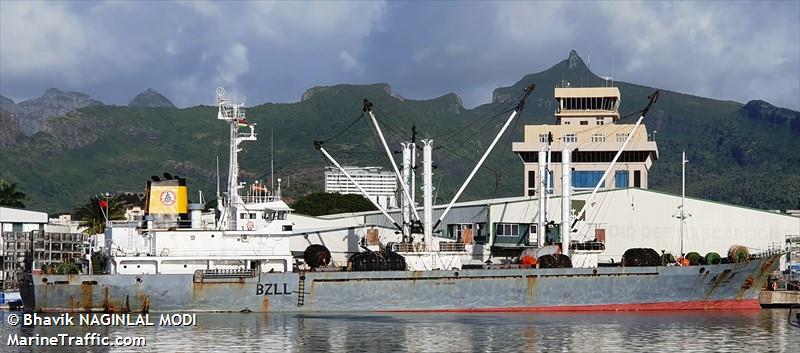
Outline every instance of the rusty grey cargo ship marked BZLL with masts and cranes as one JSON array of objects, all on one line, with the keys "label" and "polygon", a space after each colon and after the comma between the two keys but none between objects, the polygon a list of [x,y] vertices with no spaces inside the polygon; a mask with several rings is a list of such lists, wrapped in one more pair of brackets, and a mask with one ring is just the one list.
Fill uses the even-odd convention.
[{"label": "rusty grey cargo ship marked BZLL with masts and cranes", "polygon": [[[218,191],[217,209],[204,213],[189,205],[185,181],[165,175],[147,185],[147,216],[138,222],[107,228],[102,273],[53,275],[37,273],[29,264],[17,274],[25,310],[29,312],[516,312],[583,310],[755,309],[767,277],[779,265],[781,251],[763,254],[732,252],[728,259],[705,265],[664,261],[652,249],[631,249],[616,266],[598,266],[604,250],[599,239],[576,241],[584,210],[572,209],[569,147],[562,156],[562,209],[559,237],[548,239],[550,222],[540,213],[539,232],[531,249],[506,255],[468,251],[435,232],[469,185],[500,137],[525,106],[529,86],[453,200],[434,219],[432,212],[432,140],[422,140],[423,207],[410,195],[409,164],[395,164],[372,103],[370,118],[404,199],[401,221],[375,203],[396,228],[397,238],[379,239],[367,232],[358,242],[364,251],[349,254],[344,264],[333,261],[331,244],[298,241],[292,209],[278,188],[246,188],[238,180],[238,152],[256,139],[243,104],[232,103],[218,89],[217,118],[230,127],[227,192]],[[611,165],[613,170],[636,128],[656,102],[650,96],[639,112]],[[552,139],[552,138],[551,138]],[[322,141],[315,147],[365,196]],[[539,190],[552,185],[549,149],[539,152]],[[600,187],[600,183],[592,196]],[[244,189],[244,190],[243,190]],[[244,194],[243,192],[244,191]],[[537,202],[547,202],[547,191]],[[369,197],[368,197],[369,199]],[[586,202],[589,204],[590,201]],[[577,211],[577,212],[576,212]],[[534,220],[531,220],[532,222]],[[544,228],[542,228],[544,229]],[[555,228],[554,228],[555,229]],[[463,246],[463,245],[462,245]],[[477,259],[475,253],[478,253]],[[486,261],[488,259],[494,261]],[[91,266],[90,266],[91,267]]]}]

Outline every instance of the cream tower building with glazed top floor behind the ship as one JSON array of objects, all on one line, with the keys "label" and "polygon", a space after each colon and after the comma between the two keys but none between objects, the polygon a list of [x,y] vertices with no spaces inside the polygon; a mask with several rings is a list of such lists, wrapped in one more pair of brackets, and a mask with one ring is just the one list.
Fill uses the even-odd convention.
[{"label": "cream tower building with glazed top floor behind the ship", "polygon": [[[568,85],[567,85],[568,86]],[[537,193],[539,152],[550,147],[548,191],[561,194],[561,153],[572,150],[572,187],[591,190],[600,181],[616,152],[634,131],[635,124],[620,124],[620,92],[617,87],[555,88],[555,125],[526,125],[524,141],[514,142],[512,150],[523,162],[523,195]],[[545,154],[547,155],[547,153]],[[602,189],[647,189],[648,170],[658,159],[656,142],[642,124],[630,136],[614,172]]]}]

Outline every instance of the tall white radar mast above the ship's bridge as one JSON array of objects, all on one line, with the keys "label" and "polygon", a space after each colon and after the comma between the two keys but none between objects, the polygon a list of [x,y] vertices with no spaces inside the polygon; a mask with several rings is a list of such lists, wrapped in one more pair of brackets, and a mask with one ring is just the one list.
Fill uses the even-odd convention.
[{"label": "tall white radar mast above the ship's bridge", "polygon": [[[236,229],[236,209],[242,204],[239,197],[239,144],[245,141],[255,141],[255,125],[247,123],[245,119],[244,103],[233,103],[225,97],[225,89],[217,87],[217,104],[219,110],[217,119],[224,120],[230,126],[230,150],[228,164],[228,195],[227,195],[227,220],[223,221],[223,228]],[[240,133],[239,128],[247,127],[249,132]]]}]

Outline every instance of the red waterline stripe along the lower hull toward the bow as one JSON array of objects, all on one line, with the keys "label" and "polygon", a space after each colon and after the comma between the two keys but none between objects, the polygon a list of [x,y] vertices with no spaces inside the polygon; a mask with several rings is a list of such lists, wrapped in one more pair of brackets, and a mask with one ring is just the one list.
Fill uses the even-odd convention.
[{"label": "red waterline stripe along the lower hull toward the bow", "polygon": [[596,304],[566,306],[522,306],[509,308],[455,308],[378,310],[384,313],[512,313],[540,311],[655,311],[655,310],[730,310],[761,309],[757,299],[697,300],[686,302]]}]

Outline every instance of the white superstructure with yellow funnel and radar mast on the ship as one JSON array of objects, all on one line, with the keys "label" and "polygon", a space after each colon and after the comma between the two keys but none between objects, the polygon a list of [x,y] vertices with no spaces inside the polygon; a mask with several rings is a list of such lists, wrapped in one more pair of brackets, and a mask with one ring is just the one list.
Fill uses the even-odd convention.
[{"label": "white superstructure with yellow funnel and radar mast on the ship", "polygon": [[[230,165],[227,192],[217,195],[217,209],[203,213],[202,205],[181,207],[185,186],[154,186],[153,190],[159,189],[149,195],[150,215],[142,221],[111,222],[106,230],[104,252],[110,273],[292,270],[292,209],[281,200],[280,184],[277,190],[267,190],[257,183],[239,182],[240,145],[257,139],[255,124],[247,122],[243,103],[231,102],[224,94],[217,89],[217,119],[230,126]],[[154,180],[153,185],[161,182]],[[181,210],[164,216],[163,210],[173,208]],[[188,214],[189,222],[179,214]]]}]

